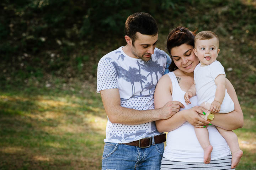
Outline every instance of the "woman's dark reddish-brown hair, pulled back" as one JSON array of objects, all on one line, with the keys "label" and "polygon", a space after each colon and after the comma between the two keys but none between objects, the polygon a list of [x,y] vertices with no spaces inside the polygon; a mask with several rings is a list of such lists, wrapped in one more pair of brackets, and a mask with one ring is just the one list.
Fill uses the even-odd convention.
[{"label": "woman's dark reddish-brown hair, pulled back", "polygon": [[[177,27],[175,29],[173,29],[168,37],[167,37],[167,42],[166,42],[166,48],[167,51],[169,52],[170,56],[171,56],[171,49],[176,47],[176,46],[180,46],[182,44],[187,44],[187,45],[191,45],[194,46],[194,37],[195,37],[195,32],[191,32],[188,30],[188,28],[185,27]],[[172,56],[171,56],[172,59]],[[170,71],[174,71],[176,70],[178,67],[175,65],[173,59],[172,62],[169,66],[169,70]]]}]

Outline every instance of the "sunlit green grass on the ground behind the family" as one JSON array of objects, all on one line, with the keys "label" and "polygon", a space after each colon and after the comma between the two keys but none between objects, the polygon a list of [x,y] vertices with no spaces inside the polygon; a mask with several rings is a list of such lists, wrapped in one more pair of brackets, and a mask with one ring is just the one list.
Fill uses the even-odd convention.
[{"label": "sunlit green grass on the ground behind the family", "polygon": [[[62,82],[0,91],[0,169],[100,169],[107,117],[95,81]],[[242,109],[236,169],[256,169],[256,108]]]}]

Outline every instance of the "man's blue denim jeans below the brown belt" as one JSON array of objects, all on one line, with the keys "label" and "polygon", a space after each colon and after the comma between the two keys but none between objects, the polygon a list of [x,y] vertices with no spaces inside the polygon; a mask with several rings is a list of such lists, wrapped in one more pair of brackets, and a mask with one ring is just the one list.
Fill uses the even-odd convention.
[{"label": "man's blue denim jeans below the brown belt", "polygon": [[160,170],[164,143],[139,148],[122,143],[106,142],[102,170]]}]

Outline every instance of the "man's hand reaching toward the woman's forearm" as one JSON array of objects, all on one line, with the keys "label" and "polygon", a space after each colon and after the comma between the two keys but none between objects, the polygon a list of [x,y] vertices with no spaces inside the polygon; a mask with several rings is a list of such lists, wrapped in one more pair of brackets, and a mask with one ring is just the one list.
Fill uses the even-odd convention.
[{"label": "man's hand reaching toward the woman's forearm", "polygon": [[178,101],[169,101],[162,108],[160,108],[161,119],[168,119],[178,111],[184,108],[184,105]]}]

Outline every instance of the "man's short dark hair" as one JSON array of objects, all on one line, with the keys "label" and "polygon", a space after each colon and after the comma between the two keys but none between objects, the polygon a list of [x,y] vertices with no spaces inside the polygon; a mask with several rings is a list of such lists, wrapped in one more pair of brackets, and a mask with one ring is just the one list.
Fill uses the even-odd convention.
[{"label": "man's short dark hair", "polygon": [[155,19],[148,13],[136,12],[127,18],[124,31],[134,43],[137,39],[137,32],[155,36],[158,34],[158,26]]}]

